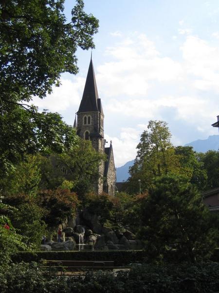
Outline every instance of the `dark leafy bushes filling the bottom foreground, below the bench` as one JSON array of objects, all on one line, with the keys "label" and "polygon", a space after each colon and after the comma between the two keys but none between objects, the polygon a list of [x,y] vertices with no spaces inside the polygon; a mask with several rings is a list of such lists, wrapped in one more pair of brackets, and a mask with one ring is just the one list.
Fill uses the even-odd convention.
[{"label": "dark leafy bushes filling the bottom foreground, below the bench", "polygon": [[219,264],[144,265],[130,271],[57,277],[36,263],[0,270],[1,293],[207,293],[219,288]]}]

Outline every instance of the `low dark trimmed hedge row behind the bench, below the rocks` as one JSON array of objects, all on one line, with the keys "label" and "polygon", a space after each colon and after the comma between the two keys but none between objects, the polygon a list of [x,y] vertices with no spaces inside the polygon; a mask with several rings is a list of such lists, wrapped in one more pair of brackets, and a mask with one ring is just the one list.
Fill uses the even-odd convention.
[{"label": "low dark trimmed hedge row behind the bench, below the rocks", "polygon": [[[13,262],[38,262],[40,259],[48,260],[96,260],[114,261],[115,266],[126,266],[130,263],[148,262],[147,252],[142,251],[35,251],[18,252],[12,258]],[[211,258],[212,261],[219,262],[219,249],[216,249]],[[181,263],[182,258],[178,257],[177,251],[167,251],[164,256],[167,263]]]}]

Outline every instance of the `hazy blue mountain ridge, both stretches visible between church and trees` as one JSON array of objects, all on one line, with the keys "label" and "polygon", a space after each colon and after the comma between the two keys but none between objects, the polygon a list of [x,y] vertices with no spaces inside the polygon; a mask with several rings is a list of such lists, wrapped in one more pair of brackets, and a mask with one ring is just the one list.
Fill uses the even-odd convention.
[{"label": "hazy blue mountain ridge, both stretches visible between church and trees", "polygon": [[[219,135],[210,135],[207,139],[198,139],[185,146],[192,146],[197,152],[208,150],[219,150]],[[127,162],[124,166],[116,168],[116,181],[127,181],[129,177],[128,169],[134,164],[134,160]]]}]

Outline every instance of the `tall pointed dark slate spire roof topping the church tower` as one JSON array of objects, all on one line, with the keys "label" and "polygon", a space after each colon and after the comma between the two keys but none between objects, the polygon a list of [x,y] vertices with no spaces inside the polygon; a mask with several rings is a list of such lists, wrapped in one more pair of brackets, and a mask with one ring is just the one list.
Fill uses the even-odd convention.
[{"label": "tall pointed dark slate spire roof topping the church tower", "polygon": [[99,97],[97,92],[93,63],[91,59],[84,87],[84,93],[81,100],[81,104],[79,106],[78,113],[98,111],[99,109],[97,106],[97,99],[99,99]]}]

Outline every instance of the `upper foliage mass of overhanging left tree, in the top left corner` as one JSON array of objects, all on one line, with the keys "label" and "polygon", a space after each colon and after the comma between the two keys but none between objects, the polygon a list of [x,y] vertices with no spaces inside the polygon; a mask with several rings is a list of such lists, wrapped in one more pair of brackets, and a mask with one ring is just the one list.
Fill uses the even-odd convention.
[{"label": "upper foliage mass of overhanging left tree, in the top left corner", "polygon": [[[0,3],[1,105],[43,98],[60,74],[76,74],[78,47],[94,47],[98,21],[77,0],[66,23],[64,0],[7,0]],[[24,104],[21,103],[23,107]]]}]

